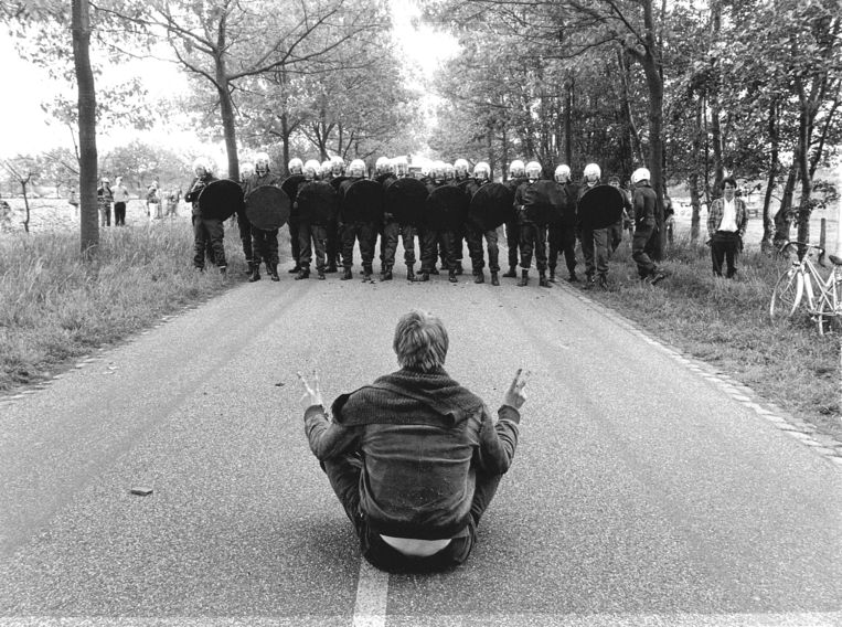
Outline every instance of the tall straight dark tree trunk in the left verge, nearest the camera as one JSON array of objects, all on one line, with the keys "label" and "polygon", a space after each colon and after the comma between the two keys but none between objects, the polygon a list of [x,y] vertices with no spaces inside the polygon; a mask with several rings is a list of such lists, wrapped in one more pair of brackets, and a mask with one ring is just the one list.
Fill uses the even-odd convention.
[{"label": "tall straight dark tree trunk in the left verge, nearest the camera", "polygon": [[71,4],[73,63],[78,85],[79,120],[79,248],[90,258],[99,246],[99,212],[96,198],[96,92],[90,68],[90,8],[87,0]]}]

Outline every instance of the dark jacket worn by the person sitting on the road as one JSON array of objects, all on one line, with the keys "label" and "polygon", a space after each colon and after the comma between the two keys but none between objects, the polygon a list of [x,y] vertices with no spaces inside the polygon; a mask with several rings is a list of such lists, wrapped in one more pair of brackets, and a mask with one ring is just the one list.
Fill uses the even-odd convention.
[{"label": "dark jacket worn by the person sitting on the road", "polygon": [[360,454],[360,506],[369,525],[396,538],[444,539],[470,517],[477,472],[502,475],[518,445],[520,414],[498,410],[444,371],[399,370],[339,396],[333,422],[321,406],[305,413],[320,460]]}]

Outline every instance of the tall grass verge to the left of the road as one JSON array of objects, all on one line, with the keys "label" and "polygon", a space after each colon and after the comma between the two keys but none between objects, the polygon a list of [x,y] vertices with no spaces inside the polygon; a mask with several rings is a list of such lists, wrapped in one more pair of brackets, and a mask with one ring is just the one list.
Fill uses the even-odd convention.
[{"label": "tall grass verge to the left of the road", "polygon": [[[226,251],[234,240],[228,230]],[[87,264],[78,249],[77,232],[0,237],[0,393],[226,288],[215,268],[192,268],[189,223],[103,229]],[[242,252],[232,257],[244,265]]]}]

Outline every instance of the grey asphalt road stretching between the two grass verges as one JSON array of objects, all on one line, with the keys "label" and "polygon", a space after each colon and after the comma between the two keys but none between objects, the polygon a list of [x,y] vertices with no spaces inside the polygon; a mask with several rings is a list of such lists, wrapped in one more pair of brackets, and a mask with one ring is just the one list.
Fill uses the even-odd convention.
[{"label": "grey asphalt road stretching between the two grass verges", "polygon": [[[490,406],[534,374],[469,562],[385,576],[296,371],[396,369],[413,307]],[[842,467],[566,285],[238,286],[1,403],[0,475],[2,626],[842,624]]]}]

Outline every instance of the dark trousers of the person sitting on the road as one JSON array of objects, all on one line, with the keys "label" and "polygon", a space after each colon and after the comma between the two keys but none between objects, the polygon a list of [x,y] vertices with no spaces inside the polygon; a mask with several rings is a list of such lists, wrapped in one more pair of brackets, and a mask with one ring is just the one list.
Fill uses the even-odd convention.
[{"label": "dark trousers of the person sitting on the road", "polygon": [[339,456],[323,461],[321,467],[328,475],[330,486],[339,497],[345,514],[354,525],[363,556],[373,566],[393,573],[443,571],[465,563],[477,541],[477,525],[491,503],[491,499],[494,498],[502,478],[502,475],[477,472],[477,486],[471,501],[468,527],[438,553],[426,557],[415,557],[390,546],[380,533],[369,527],[365,513],[360,508],[360,476],[363,460],[359,456]]}]

